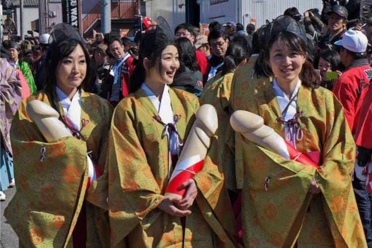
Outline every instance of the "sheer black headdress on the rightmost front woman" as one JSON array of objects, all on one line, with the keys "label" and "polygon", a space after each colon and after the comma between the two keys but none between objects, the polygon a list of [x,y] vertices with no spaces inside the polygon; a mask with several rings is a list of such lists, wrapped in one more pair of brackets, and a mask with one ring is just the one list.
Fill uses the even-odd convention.
[{"label": "sheer black headdress on the rightmost front woman", "polygon": [[280,15],[268,25],[270,32],[266,32],[267,40],[278,35],[280,32],[289,32],[297,35],[305,43],[307,42],[306,31],[301,23],[288,15]]}]

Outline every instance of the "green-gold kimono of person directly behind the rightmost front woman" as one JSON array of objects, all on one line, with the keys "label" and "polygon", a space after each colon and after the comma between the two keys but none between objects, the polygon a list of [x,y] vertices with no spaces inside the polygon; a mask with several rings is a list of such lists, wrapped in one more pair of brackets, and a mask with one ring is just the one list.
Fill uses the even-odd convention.
[{"label": "green-gold kimono of person directly behind the rightmost front woman", "polygon": [[[247,106],[250,106],[254,100],[253,95],[257,94],[259,90],[266,89],[271,84],[270,78],[257,78],[255,75],[254,68],[257,58],[257,56],[251,56],[246,64],[239,66],[235,71],[230,95],[232,113],[236,110],[246,110]],[[239,134],[231,135],[228,139],[228,145],[235,151],[236,187],[242,189],[243,151],[242,146],[239,144],[240,139],[237,138],[237,135]]]}]

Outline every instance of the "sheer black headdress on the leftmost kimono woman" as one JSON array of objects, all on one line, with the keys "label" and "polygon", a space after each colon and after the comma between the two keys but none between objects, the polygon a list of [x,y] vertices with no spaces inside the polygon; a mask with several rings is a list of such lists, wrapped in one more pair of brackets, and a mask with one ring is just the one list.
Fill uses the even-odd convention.
[{"label": "sheer black headdress on the leftmost kimono woman", "polygon": [[77,40],[82,44],[85,44],[82,36],[78,32],[78,30],[76,30],[76,28],[67,23],[58,23],[54,27],[52,34],[49,37],[49,44],[53,43],[59,44],[62,41],[70,39]]}]

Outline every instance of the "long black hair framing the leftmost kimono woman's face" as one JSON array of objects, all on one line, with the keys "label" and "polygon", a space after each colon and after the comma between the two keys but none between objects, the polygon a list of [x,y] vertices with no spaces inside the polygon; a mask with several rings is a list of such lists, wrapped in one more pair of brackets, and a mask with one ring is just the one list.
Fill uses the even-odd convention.
[{"label": "long black hair framing the leftmost kimono woman's face", "polygon": [[48,54],[45,60],[46,75],[44,77],[44,90],[47,93],[48,97],[51,97],[52,102],[55,98],[55,87],[57,85],[57,67],[60,65],[61,61],[64,58],[68,57],[75,50],[78,45],[82,47],[87,63],[87,74],[79,87],[82,87],[83,89],[89,89],[90,85],[88,84],[91,81],[92,75],[90,71],[91,59],[85,45],[75,39],[68,39],[60,43],[53,42],[49,46]]}]

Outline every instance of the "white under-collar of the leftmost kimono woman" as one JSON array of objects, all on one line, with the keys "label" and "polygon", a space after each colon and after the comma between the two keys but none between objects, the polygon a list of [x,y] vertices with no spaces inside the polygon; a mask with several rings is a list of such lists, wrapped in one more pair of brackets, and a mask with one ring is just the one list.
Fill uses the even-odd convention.
[{"label": "white under-collar of the leftmost kimono woman", "polygon": [[56,86],[56,91],[58,98],[60,99],[63,112],[66,117],[69,118],[76,130],[80,130],[82,107],[81,107],[81,90],[76,91],[73,98],[70,98],[58,87]]}]

